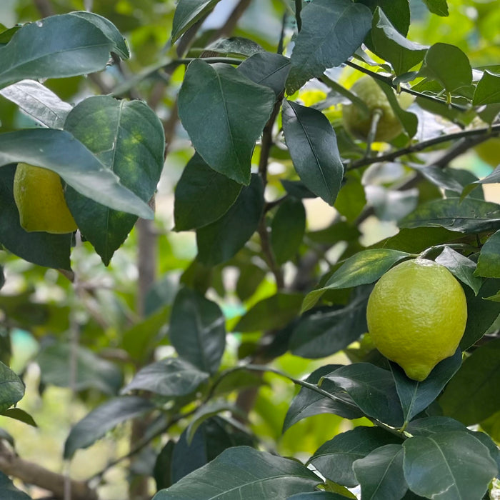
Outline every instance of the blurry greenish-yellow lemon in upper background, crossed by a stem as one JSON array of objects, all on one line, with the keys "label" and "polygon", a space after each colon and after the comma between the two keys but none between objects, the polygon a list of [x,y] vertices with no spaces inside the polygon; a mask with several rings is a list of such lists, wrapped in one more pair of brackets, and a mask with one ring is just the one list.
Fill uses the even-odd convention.
[{"label": "blurry greenish-yellow lemon in upper background, crossed by a stem", "polygon": [[[361,76],[361,78],[356,80],[354,85],[351,86],[351,92],[364,101],[366,106],[368,106],[370,115],[366,116],[363,114],[361,109],[355,104],[346,104],[342,106],[342,119],[347,131],[358,139],[366,140],[370,131],[371,120],[374,113],[378,111],[381,117],[376,129],[375,140],[391,141],[391,139],[401,134],[403,131],[401,121],[399,121],[396,114],[394,114],[394,110],[391,104],[389,104],[386,94],[384,94],[384,91],[382,91],[371,76]],[[397,96],[397,99],[400,106],[405,109],[412,101],[411,96],[410,99],[408,99],[406,94]]]}]

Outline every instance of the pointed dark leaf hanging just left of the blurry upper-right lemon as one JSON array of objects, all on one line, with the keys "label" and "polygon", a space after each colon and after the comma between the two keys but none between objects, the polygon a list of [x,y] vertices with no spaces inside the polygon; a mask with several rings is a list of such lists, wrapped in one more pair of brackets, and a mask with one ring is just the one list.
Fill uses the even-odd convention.
[{"label": "pointed dark leaf hanging just left of the blurry upper-right lemon", "polygon": [[335,131],[326,116],[317,109],[285,100],[283,131],[301,180],[314,194],[333,205],[341,187],[344,166]]}]

